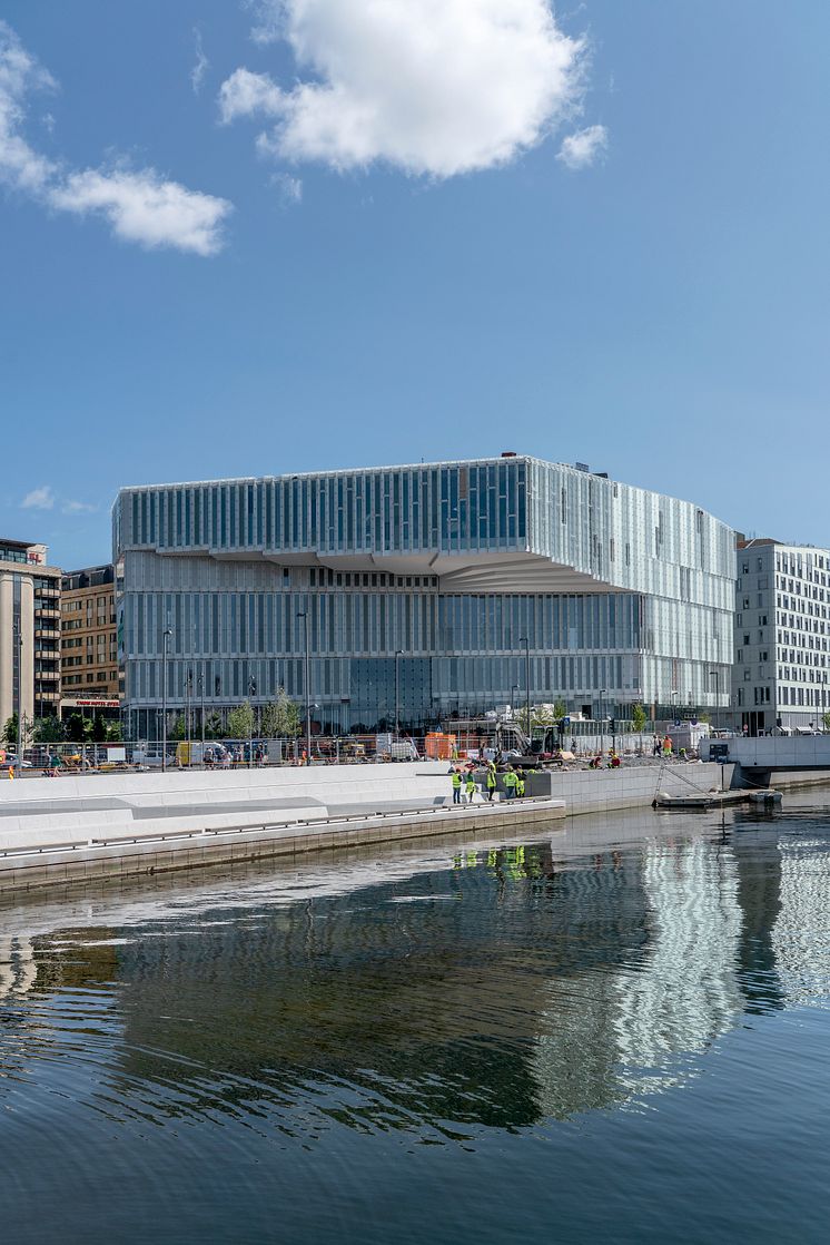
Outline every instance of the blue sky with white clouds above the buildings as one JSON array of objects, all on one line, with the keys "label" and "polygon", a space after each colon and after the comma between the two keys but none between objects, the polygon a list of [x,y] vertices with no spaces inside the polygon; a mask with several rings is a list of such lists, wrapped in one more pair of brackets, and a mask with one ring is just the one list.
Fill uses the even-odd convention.
[{"label": "blue sky with white clouds above the buildings", "polygon": [[0,19],[0,534],[514,449],[830,545],[824,0]]}]

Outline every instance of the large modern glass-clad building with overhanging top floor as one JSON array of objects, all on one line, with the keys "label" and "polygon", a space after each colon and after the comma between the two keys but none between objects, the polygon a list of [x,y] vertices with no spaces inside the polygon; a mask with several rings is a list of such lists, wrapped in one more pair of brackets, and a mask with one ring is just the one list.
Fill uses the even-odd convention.
[{"label": "large modern glass-clad building with overhanging top floor", "polygon": [[[124,488],[127,727],[277,687],[324,730],[600,698],[728,706],[735,538],[691,502],[495,459]],[[307,631],[306,631],[307,627]],[[307,662],[306,662],[307,640]]]}]

